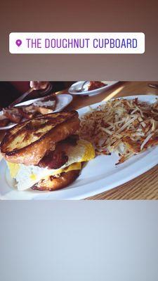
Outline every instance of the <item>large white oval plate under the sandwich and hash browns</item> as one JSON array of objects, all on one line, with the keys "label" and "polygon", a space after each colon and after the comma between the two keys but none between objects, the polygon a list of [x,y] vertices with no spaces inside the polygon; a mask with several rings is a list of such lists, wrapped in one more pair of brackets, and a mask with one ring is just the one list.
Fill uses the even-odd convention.
[{"label": "large white oval plate under the sandwich and hash browns", "polygon": [[[139,98],[139,100],[153,103],[157,96],[131,96],[124,98]],[[102,103],[91,105],[96,108]],[[89,107],[84,107],[79,110],[79,115],[84,115],[89,111]],[[145,173],[153,166],[158,164],[158,146],[150,148],[147,151],[131,157],[126,162],[115,165],[118,161],[117,155],[97,156],[89,161],[81,170],[81,175],[72,185],[65,189],[53,192],[38,192],[35,190],[26,190],[20,192],[9,187],[6,181],[6,163],[4,160],[0,163],[0,193],[1,199],[15,200],[80,200],[86,197],[96,195],[100,192],[105,192],[117,187],[127,181],[130,181],[136,176]]]}]

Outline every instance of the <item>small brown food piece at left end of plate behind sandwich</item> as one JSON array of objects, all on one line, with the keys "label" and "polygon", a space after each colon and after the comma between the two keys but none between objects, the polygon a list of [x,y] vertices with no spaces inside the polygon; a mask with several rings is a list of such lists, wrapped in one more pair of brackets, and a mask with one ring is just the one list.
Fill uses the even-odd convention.
[{"label": "small brown food piece at left end of plate behind sandwich", "polygon": [[4,108],[3,113],[13,123],[20,123],[22,120],[22,115],[18,107]]}]

